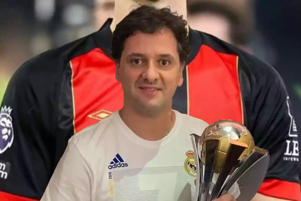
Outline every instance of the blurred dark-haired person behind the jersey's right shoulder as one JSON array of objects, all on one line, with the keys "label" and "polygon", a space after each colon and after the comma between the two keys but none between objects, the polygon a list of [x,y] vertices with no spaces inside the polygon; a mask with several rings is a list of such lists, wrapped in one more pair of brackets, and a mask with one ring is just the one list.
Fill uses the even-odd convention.
[{"label": "blurred dark-haired person behind the jersey's right shoulder", "polygon": [[229,42],[244,50],[253,32],[250,1],[187,0],[189,27]]}]

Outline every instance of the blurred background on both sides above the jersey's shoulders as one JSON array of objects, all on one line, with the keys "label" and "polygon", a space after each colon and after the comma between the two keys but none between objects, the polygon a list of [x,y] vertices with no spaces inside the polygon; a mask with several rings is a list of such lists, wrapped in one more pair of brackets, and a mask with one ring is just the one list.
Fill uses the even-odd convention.
[{"label": "blurred background on both sides above the jersey's shoulders", "polygon": [[[0,102],[29,58],[98,30],[113,0],[0,1]],[[301,128],[301,1],[188,0],[188,23],[262,58],[281,74]]]}]

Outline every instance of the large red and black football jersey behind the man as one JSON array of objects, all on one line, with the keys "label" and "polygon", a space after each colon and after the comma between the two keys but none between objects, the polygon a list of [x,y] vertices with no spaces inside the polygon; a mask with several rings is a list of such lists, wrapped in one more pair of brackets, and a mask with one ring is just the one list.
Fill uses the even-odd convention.
[{"label": "large red and black football jersey behind the man", "polygon": [[[69,138],[122,108],[111,21],[30,59],[11,78],[0,114],[0,200],[39,200]],[[246,125],[256,146],[270,153],[259,193],[300,201],[297,129],[279,74],[214,36],[190,29],[189,38],[184,84],[172,108],[209,124]]]}]

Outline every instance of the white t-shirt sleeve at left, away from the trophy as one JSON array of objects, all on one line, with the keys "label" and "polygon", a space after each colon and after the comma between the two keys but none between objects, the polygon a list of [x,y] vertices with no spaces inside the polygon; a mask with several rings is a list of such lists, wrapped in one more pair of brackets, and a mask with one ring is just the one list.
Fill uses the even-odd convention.
[{"label": "white t-shirt sleeve at left, away from the trophy", "polygon": [[91,200],[90,170],[71,139],[41,201]]}]

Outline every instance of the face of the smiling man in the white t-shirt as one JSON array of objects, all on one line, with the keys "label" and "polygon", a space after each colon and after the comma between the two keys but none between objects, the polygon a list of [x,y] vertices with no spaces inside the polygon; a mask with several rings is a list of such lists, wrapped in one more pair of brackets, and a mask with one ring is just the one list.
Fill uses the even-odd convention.
[{"label": "face of the smiling man in the white t-shirt", "polygon": [[125,41],[116,64],[116,79],[132,107],[160,111],[171,106],[176,88],[183,83],[184,63],[179,60],[177,46],[168,29],[154,34],[137,32]]}]

